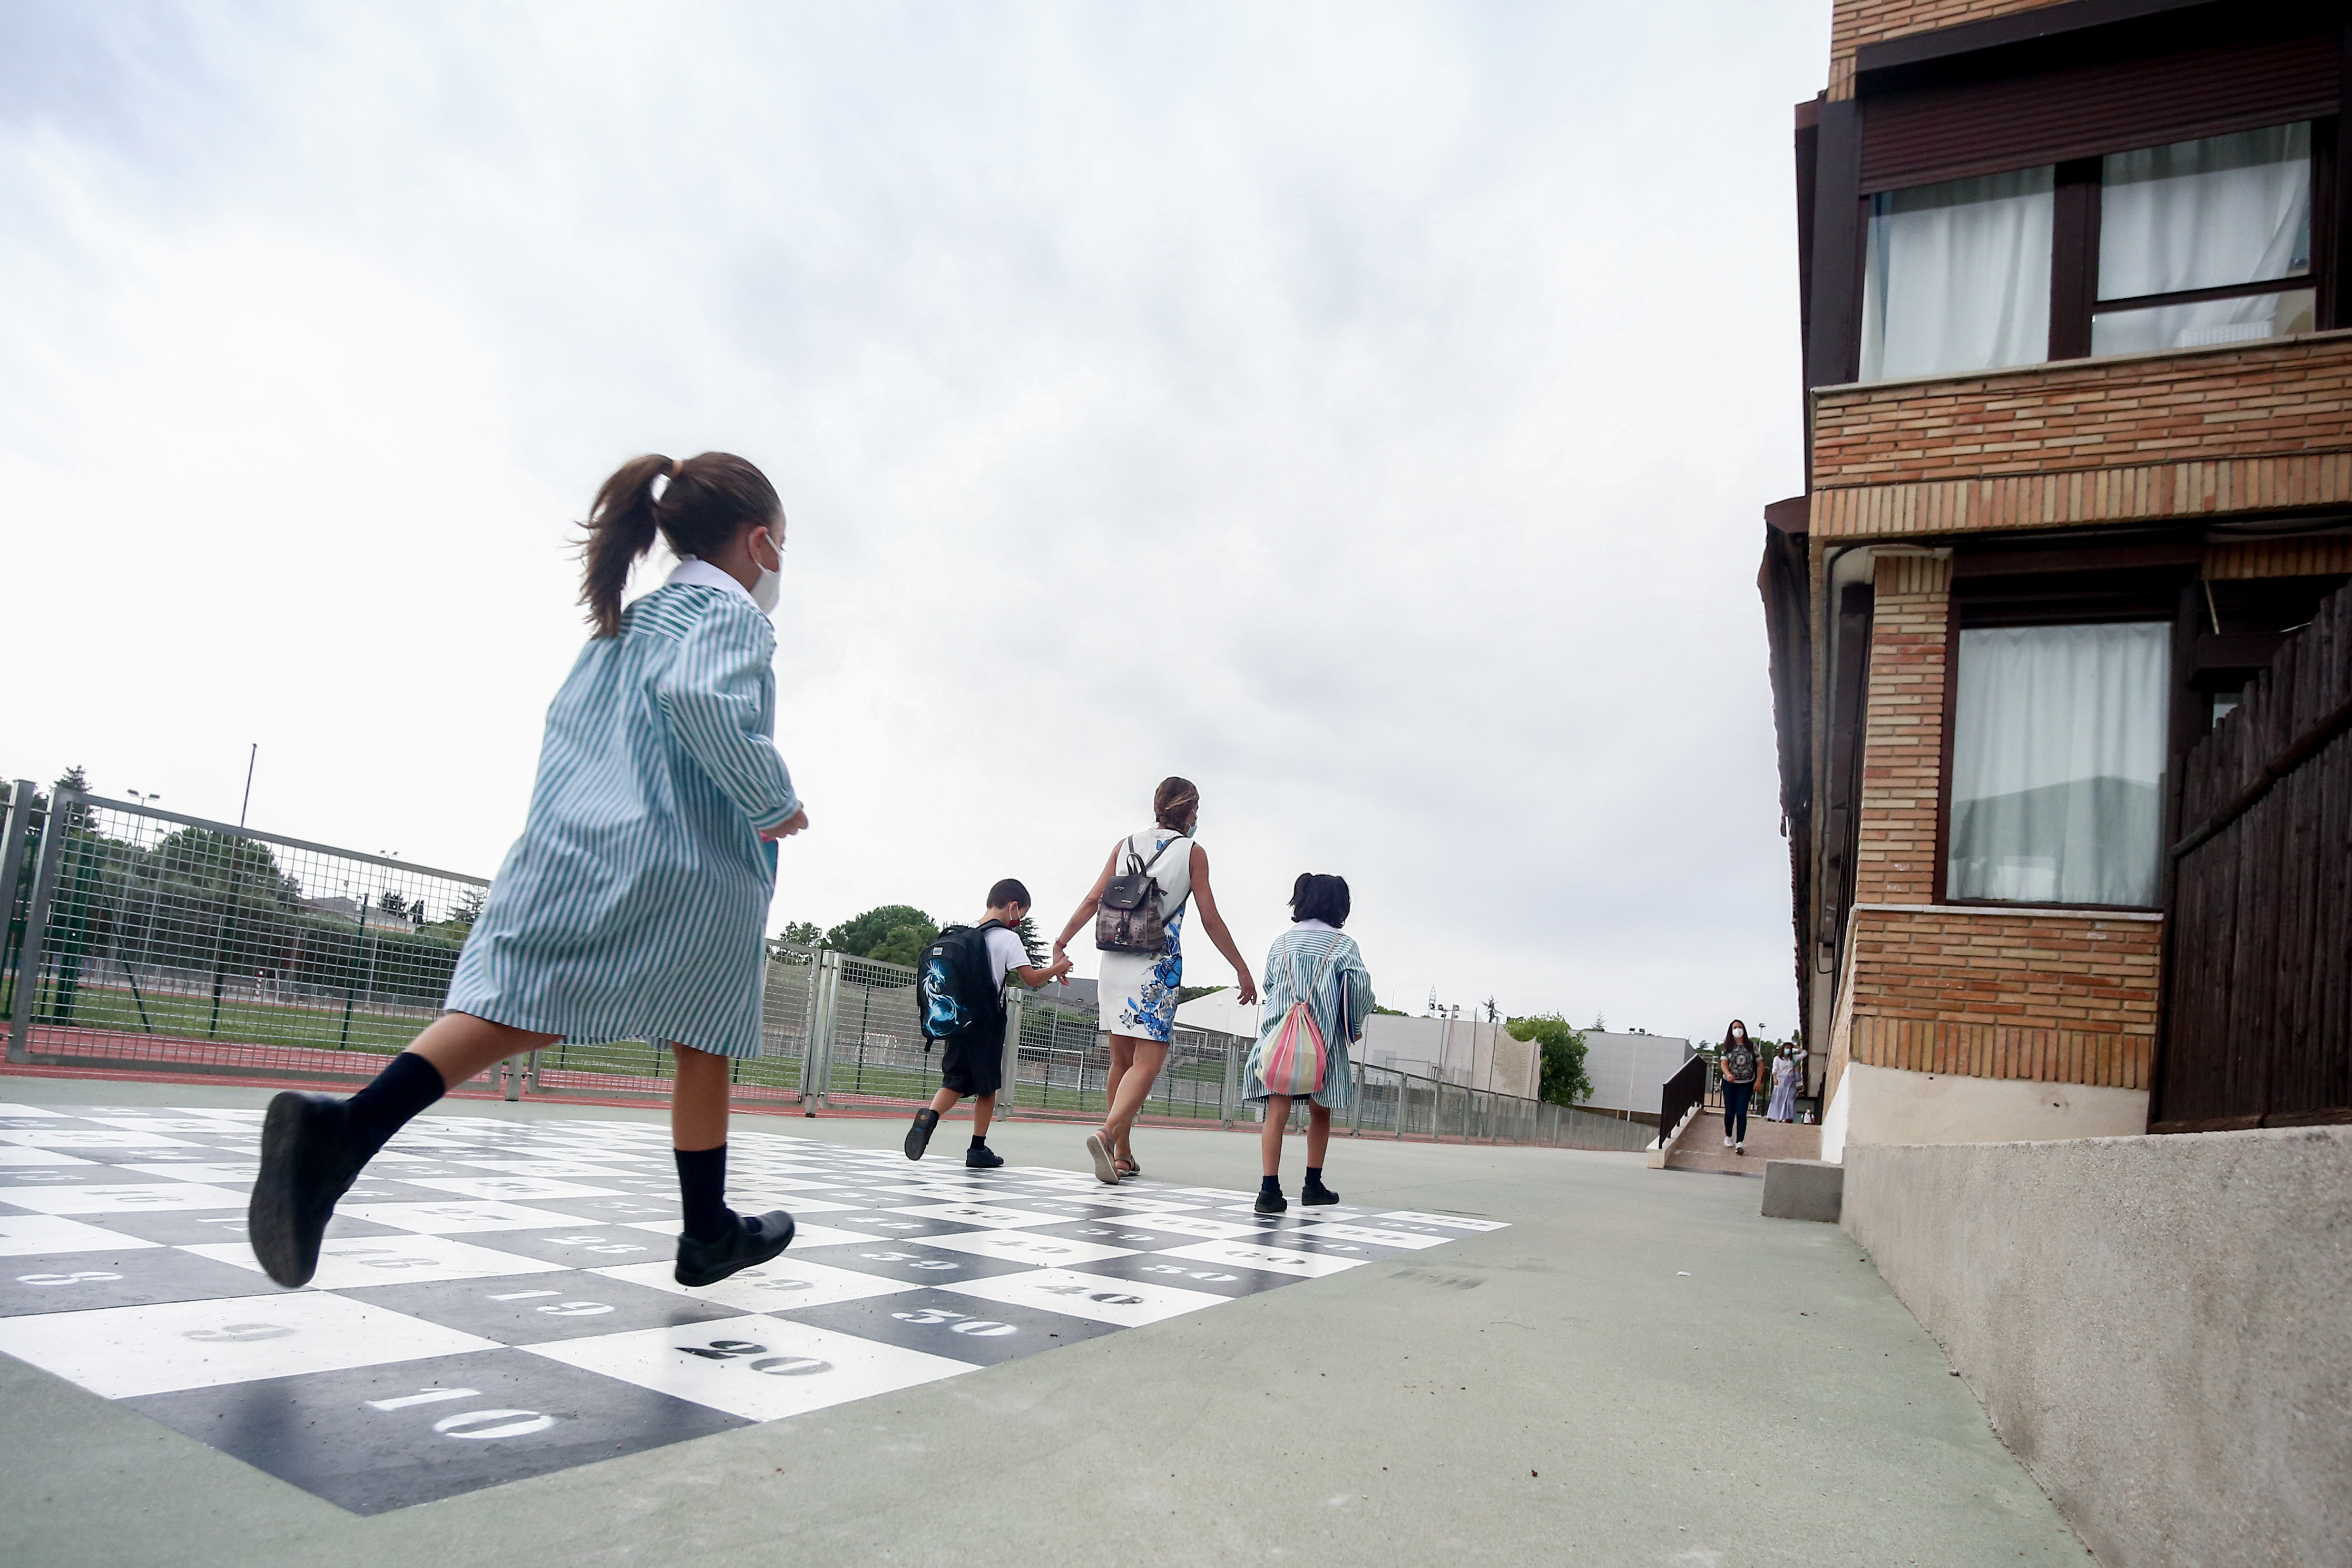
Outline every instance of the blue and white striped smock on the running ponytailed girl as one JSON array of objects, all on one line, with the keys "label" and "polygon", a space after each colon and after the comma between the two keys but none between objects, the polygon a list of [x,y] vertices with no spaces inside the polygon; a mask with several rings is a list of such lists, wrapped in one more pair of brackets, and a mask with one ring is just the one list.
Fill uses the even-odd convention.
[{"label": "blue and white striped smock on the running ponytailed girl", "polygon": [[630,604],[548,708],[522,837],[449,1011],[576,1041],[760,1053],[776,846],[776,628],[706,562]]}]

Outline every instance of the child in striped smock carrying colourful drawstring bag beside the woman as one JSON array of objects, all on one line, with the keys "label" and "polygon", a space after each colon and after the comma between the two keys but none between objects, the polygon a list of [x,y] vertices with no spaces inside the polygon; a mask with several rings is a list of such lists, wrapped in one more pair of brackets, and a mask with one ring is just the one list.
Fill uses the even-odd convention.
[{"label": "child in striped smock carrying colourful drawstring bag beside the woman", "polygon": [[[1331,1147],[1331,1112],[1355,1103],[1348,1046],[1364,1037],[1364,1020],[1374,1006],[1371,971],[1364,969],[1355,938],[1341,931],[1345,924],[1348,879],[1301,872],[1291,884],[1291,929],[1265,950],[1261,1044],[1282,1027],[1294,1001],[1308,1004],[1315,1030],[1324,1037],[1324,1079],[1308,1095],[1308,1180],[1298,1190],[1298,1201],[1310,1208],[1338,1201],[1338,1194],[1324,1187],[1322,1161]],[[1282,1197],[1282,1133],[1291,1121],[1291,1095],[1270,1093],[1256,1063],[1242,1067],[1242,1098],[1265,1103],[1265,1131],[1258,1138],[1265,1173],[1256,1208],[1282,1213],[1291,1206]]]}]

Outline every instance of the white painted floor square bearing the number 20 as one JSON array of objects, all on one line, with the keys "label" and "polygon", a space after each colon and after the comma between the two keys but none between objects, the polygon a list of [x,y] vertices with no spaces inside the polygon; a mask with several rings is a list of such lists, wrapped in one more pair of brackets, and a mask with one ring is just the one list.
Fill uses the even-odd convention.
[{"label": "white painted floor square bearing the number 20", "polygon": [[746,1420],[802,1415],[971,1371],[967,1361],[781,1316],[640,1328],[524,1349]]}]

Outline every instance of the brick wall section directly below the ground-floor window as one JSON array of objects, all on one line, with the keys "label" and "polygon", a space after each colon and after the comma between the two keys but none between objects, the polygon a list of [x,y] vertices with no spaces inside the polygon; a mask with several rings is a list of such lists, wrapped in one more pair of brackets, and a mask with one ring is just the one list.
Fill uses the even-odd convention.
[{"label": "brick wall section directly below the ground-floor window", "polygon": [[2161,922],[1950,907],[1853,922],[1853,1060],[2147,1088]]}]

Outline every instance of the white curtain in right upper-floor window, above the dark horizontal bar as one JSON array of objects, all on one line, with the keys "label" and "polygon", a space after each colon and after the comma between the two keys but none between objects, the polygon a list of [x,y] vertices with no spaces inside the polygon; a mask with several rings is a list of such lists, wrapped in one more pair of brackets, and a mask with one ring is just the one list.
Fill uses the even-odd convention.
[{"label": "white curtain in right upper-floor window, above the dark horizontal bar", "polygon": [[2223,289],[2312,270],[2312,127],[2110,153],[2098,296]]}]

